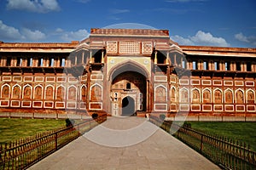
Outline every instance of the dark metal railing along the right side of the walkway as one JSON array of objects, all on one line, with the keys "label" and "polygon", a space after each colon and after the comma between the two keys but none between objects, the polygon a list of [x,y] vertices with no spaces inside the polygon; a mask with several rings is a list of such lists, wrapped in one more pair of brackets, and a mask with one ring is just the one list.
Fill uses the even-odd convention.
[{"label": "dark metal railing along the right side of the walkway", "polygon": [[[201,133],[189,126],[181,127],[172,122],[163,122],[156,117],[150,117],[149,120],[168,133],[170,130],[177,132],[173,134],[177,139],[223,169],[256,169],[256,152],[250,150],[249,145],[245,143]],[[173,129],[170,129],[171,127]]]}]

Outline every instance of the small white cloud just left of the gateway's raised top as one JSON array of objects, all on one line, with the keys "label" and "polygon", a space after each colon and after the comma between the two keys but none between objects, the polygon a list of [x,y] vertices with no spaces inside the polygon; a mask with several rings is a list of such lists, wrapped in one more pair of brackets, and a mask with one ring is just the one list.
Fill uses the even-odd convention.
[{"label": "small white cloud just left of the gateway's raised top", "polygon": [[89,36],[89,32],[86,30],[79,30],[79,31],[69,31],[69,32],[63,32],[60,34],[61,35],[61,40],[63,41],[73,41],[73,40],[77,40],[80,41],[82,39],[84,39],[85,37]]}]

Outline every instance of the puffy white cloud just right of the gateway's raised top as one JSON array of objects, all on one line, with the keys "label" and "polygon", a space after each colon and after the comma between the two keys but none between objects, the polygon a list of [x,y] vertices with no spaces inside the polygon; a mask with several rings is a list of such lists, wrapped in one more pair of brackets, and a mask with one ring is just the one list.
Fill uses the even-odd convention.
[{"label": "puffy white cloud just right of the gateway's raised top", "polygon": [[180,37],[172,36],[173,41],[180,45],[201,45],[201,46],[218,46],[218,47],[229,47],[230,44],[226,42],[223,37],[213,37],[210,32],[197,31],[193,37]]}]

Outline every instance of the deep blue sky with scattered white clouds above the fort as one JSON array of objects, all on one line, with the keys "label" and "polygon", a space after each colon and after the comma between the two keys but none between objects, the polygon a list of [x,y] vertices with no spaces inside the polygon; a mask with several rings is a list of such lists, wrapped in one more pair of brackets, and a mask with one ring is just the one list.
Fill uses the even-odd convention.
[{"label": "deep blue sky with scattered white clouds above the fort", "polygon": [[94,27],[151,26],[180,45],[256,48],[255,16],[255,0],[0,0],[0,41],[71,42]]}]

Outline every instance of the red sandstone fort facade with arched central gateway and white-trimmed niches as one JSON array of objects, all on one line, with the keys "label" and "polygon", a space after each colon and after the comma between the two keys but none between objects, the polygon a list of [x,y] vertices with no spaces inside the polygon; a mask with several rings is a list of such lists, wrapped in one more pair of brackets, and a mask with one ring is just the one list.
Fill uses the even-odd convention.
[{"label": "red sandstone fort facade with arched central gateway and white-trimmed niches", "polygon": [[255,73],[256,48],[179,46],[166,30],[0,42],[0,111],[256,116]]}]

